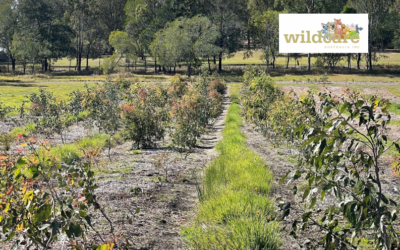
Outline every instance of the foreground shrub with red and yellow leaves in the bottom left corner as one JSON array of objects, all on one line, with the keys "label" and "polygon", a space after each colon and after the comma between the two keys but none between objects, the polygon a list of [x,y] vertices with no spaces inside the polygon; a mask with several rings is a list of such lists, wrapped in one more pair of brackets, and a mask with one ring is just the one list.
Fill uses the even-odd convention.
[{"label": "foreground shrub with red and yellow leaves in the bottom left corner", "polygon": [[[94,195],[91,164],[68,165],[50,154],[39,157],[37,144],[23,140],[21,146],[29,154],[0,156],[3,242],[13,240],[15,249],[45,249],[64,233],[71,244],[86,242],[86,232],[93,227],[93,209],[103,213]],[[85,244],[92,247],[91,242]]]}]

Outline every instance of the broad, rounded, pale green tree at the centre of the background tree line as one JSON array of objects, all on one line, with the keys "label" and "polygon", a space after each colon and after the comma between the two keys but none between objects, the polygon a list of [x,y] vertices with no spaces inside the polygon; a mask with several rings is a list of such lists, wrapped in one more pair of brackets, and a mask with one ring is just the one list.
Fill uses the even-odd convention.
[{"label": "broad, rounded, pale green tree at the centre of the background tree line", "polygon": [[217,27],[207,17],[178,18],[155,34],[150,50],[164,66],[184,62],[191,75],[193,64],[201,64],[200,57],[217,51]]}]

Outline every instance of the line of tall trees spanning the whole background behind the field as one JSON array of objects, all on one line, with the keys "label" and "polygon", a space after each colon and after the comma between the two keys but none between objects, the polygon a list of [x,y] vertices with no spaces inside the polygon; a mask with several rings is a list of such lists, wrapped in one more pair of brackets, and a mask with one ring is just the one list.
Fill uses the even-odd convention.
[{"label": "line of tall trees spanning the whole background behind the field", "polygon": [[[245,57],[262,50],[269,71],[279,55],[279,13],[368,13],[368,54],[321,54],[316,65],[334,67],[347,58],[368,69],[385,48],[398,48],[398,0],[0,0],[0,46],[15,71],[51,61],[76,60],[77,71],[89,69],[89,59],[111,55],[102,69],[148,59],[155,71],[188,75],[206,61],[222,70],[222,60],[237,51]],[[293,20],[295,21],[295,20]],[[290,58],[285,54],[287,67]],[[86,59],[86,68],[82,65]],[[311,55],[308,55],[311,70]]]}]

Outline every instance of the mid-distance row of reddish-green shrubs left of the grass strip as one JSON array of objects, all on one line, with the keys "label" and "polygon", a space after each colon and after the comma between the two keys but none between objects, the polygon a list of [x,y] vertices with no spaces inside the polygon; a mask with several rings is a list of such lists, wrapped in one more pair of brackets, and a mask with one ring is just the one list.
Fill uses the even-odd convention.
[{"label": "mid-distance row of reddish-green shrubs left of the grass strip", "polygon": [[[58,134],[62,142],[69,126],[85,120],[88,129],[98,129],[111,141],[122,134],[134,148],[154,147],[169,132],[173,146],[193,148],[207,126],[222,112],[226,85],[208,77],[197,82],[176,75],[168,85],[144,85],[125,79],[101,85],[85,86],[83,91],[61,100],[40,89],[19,108],[27,123],[35,124],[35,132]],[[4,118],[12,110],[2,105]]]}]

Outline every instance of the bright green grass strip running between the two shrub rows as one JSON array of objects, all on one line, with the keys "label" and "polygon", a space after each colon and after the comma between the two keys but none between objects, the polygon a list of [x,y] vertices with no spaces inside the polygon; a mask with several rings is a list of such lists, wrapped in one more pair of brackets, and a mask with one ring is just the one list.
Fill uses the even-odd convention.
[{"label": "bright green grass strip running between the two shrub rows", "polygon": [[[233,86],[233,100],[237,100]],[[192,227],[182,229],[190,249],[279,249],[279,225],[268,195],[272,174],[265,162],[246,147],[240,131],[240,106],[229,108],[220,156],[206,169],[200,206]]]}]

